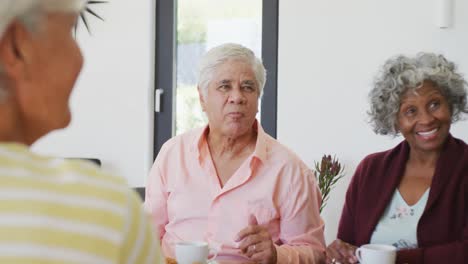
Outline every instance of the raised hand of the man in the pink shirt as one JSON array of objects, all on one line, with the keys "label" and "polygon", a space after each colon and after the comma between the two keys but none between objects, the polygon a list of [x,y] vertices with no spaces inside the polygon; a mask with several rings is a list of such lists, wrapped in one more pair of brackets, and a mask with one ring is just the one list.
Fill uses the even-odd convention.
[{"label": "raised hand of the man in the pink shirt", "polygon": [[249,216],[249,226],[237,234],[241,253],[251,260],[262,264],[276,264],[276,248],[268,229],[257,222],[255,216]]}]

